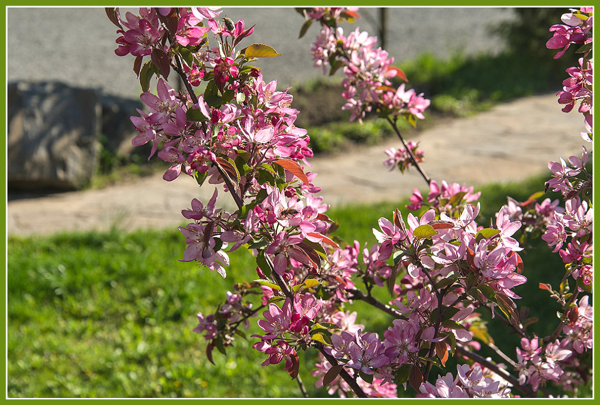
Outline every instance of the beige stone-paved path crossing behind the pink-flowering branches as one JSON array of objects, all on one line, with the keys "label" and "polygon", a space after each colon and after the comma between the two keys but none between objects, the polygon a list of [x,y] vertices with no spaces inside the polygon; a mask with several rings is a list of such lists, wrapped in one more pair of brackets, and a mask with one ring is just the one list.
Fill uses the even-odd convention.
[{"label": "beige stone-paved path crossing behind the pink-flowering branches", "polygon": [[[477,185],[548,172],[548,161],[581,153],[581,130],[580,114],[562,113],[555,95],[540,95],[449,121],[422,131],[415,140],[425,150],[424,169],[432,179]],[[320,195],[331,205],[393,201],[410,196],[415,187],[427,190],[415,170],[401,175],[383,166],[383,150],[398,146],[400,142],[392,139],[383,145],[313,158],[313,167],[307,171],[319,173],[314,184],[322,187]],[[98,190],[14,200],[9,196],[8,235],[115,226],[125,230],[175,227],[185,221],[181,209],[189,208],[191,199],[208,200],[214,190],[199,189],[188,176],[170,183],[161,176]],[[233,206],[225,193],[220,193],[218,204]]]}]

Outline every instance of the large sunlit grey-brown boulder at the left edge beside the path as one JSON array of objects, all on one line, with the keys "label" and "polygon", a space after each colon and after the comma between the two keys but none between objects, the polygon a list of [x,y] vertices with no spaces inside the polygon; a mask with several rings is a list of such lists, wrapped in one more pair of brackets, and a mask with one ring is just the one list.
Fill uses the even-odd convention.
[{"label": "large sunlit grey-brown boulder at the left edge beside the path", "polygon": [[8,85],[9,188],[73,190],[97,166],[101,106],[93,89],[58,82]]}]

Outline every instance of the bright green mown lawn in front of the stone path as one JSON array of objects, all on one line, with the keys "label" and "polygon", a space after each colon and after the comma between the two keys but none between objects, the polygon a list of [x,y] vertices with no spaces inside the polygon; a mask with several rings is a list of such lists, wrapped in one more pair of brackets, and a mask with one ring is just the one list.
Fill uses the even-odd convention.
[{"label": "bright green mown lawn in front of the stone path", "polygon": [[[497,211],[507,194],[526,199],[544,181],[479,188],[483,214]],[[371,246],[377,220],[405,205],[345,206],[329,215],[340,223],[340,238]],[[557,308],[537,286],[557,286],[564,269],[557,254],[538,245],[523,255],[529,286],[516,290],[530,316],[548,320],[531,328],[547,333]],[[179,262],[184,248],[176,229],[9,238],[8,397],[301,397],[283,364],[260,365],[265,356],[250,337],[260,331],[256,322],[248,341],[238,339],[227,356],[215,350],[215,365],[208,361],[204,338],[192,331],[195,314],[214,312],[233,283],[256,278],[256,264],[247,251],[236,251],[223,279]],[[362,303],[356,308],[357,322],[367,329],[382,334],[387,328],[384,314]],[[498,346],[508,345],[506,353],[514,356],[518,338],[503,325],[493,328],[502,336]],[[315,356],[301,353],[300,375],[308,395],[328,397],[309,374]]]}]

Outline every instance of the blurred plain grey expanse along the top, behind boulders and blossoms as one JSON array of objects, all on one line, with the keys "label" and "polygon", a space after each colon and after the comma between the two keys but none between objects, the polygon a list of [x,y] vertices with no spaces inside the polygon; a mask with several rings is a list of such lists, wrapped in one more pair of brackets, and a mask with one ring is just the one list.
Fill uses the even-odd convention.
[{"label": "blurred plain grey expanse along the top, behind boulders and blossoms", "polygon": [[[133,10],[124,8],[125,10]],[[378,8],[362,8],[363,17],[347,25],[376,35]],[[293,8],[224,8],[223,16],[255,24],[248,38],[274,47],[281,56],[257,62],[266,80],[281,87],[322,76],[313,68],[310,44],[319,32],[311,26],[298,39],[302,17]],[[512,19],[511,8],[397,7],[388,10],[388,45],[396,61],[432,52],[446,58],[461,50],[467,54],[496,52],[502,40],[487,34],[487,27]],[[70,85],[101,89],[107,94],[136,98],[139,84],[131,70],[133,58],[119,57],[116,27],[100,7],[10,7],[7,10],[7,76],[13,80],[60,80]],[[242,42],[242,44],[244,44]],[[341,73],[338,73],[341,74]]]}]

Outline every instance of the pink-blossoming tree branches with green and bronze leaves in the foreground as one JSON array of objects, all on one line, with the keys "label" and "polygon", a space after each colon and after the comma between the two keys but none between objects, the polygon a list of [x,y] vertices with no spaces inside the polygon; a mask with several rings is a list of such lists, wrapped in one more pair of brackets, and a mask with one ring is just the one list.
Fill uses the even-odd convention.
[{"label": "pink-blossoming tree branches with green and bronze leaves in the foreground", "polygon": [[[509,200],[490,226],[478,224],[480,194],[428,178],[421,166],[424,152],[398,130],[398,119],[412,124],[424,119],[429,101],[404,83],[391,87],[392,77],[406,77],[375,47],[376,38],[359,29],[346,37],[338,26],[357,19],[356,8],[298,11],[305,17],[301,35],[313,22],[321,25],[311,48],[315,65],[331,73],[343,68],[350,119],[362,121],[369,113],[387,119],[403,148],[386,151],[386,165],[402,172],[415,167],[430,188],[426,198],[415,189],[406,220],[398,209],[391,218],[380,218],[379,229],[373,229],[377,244],[371,247],[343,243],[332,233],[329,206],[317,196],[317,174],[307,171],[313,152],[307,131],[295,126],[299,112],[293,97],[289,89],[278,90],[275,80],[265,82],[251,65],[279,54],[265,44],[241,47],[253,27],[219,19],[215,8],[140,8],[139,16],[124,18],[118,8],[107,9],[121,35],[115,53],[135,57],[133,70],[144,90],[140,98],[147,111],[131,117],[139,131],[133,145],[151,143],[150,157],[169,164],[166,181],[183,173],[199,186],[219,185],[238,208],[217,208],[215,189],[208,202],[193,199],[182,209],[189,220],[179,227],[187,245],[182,261],[225,278],[232,251],[244,247],[256,259],[256,280],[236,283],[215,313],[197,314],[194,332],[208,341],[208,359],[214,349],[226,353],[236,335],[244,335],[241,327],[258,317],[261,332],[251,337],[257,338],[253,348],[265,356],[262,365],[282,364],[299,379],[299,352],[316,349],[317,386],[341,397],[396,397],[410,385],[418,397],[503,398],[520,395],[515,391],[535,396],[547,382],[563,387],[585,382],[589,375],[581,371],[580,355],[592,348],[592,307],[585,294],[592,292],[593,273],[587,150],[569,158],[570,166],[563,160],[550,163],[548,188],[562,191],[564,208],[550,199],[538,202],[544,195],[538,193],[523,203]],[[591,10],[574,15],[587,17],[577,17],[583,25],[564,17],[571,28],[553,31],[579,43],[580,31],[591,35]],[[553,46],[568,47],[560,38]],[[574,94],[581,73],[591,94],[591,62],[585,69],[569,72],[574,79],[565,91]],[[168,84],[172,71],[184,91]],[[154,94],[149,88],[155,77]],[[577,97],[591,106],[587,93]],[[591,116],[589,109],[580,111]],[[560,324],[547,338],[527,332],[530,319],[521,319],[520,296],[513,290],[527,281],[522,236],[535,232],[566,264],[558,291],[539,286],[562,305]],[[569,276],[577,282],[572,292]],[[375,298],[377,287],[389,293],[386,302]],[[388,314],[382,335],[356,323],[358,314],[347,310],[353,301]],[[517,360],[493,346],[481,311],[521,335]],[[497,358],[479,355],[482,345]],[[451,357],[460,363],[456,377],[430,376]]]}]

